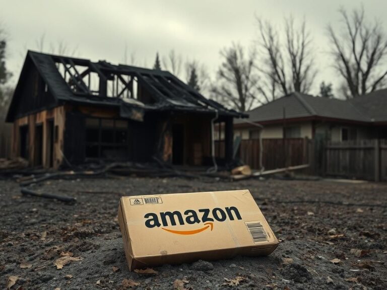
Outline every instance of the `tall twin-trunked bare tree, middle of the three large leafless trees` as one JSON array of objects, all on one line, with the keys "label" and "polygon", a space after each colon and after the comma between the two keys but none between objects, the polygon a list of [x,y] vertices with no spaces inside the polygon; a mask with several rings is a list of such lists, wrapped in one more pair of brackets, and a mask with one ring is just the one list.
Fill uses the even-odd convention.
[{"label": "tall twin-trunked bare tree, middle of the three large leafless trees", "polygon": [[265,76],[260,92],[266,102],[278,93],[308,93],[317,71],[314,69],[312,40],[303,20],[295,27],[294,18],[285,19],[285,41],[281,42],[278,30],[268,21],[256,18],[259,27],[259,45],[262,49],[263,67],[257,67]]}]

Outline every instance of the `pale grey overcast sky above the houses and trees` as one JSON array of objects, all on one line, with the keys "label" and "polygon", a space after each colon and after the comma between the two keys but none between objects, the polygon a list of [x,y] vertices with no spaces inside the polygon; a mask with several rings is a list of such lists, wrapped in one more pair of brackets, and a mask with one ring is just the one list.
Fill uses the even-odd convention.
[{"label": "pale grey overcast sky above the houses and trees", "polygon": [[[221,62],[219,51],[233,41],[249,46],[256,39],[254,14],[281,27],[292,15],[306,19],[316,51],[317,75],[312,94],[321,81],[338,85],[330,67],[325,28],[339,26],[338,9],[362,4],[357,0],[0,0],[0,24],[8,34],[7,66],[19,78],[27,49],[38,50],[44,35],[44,50],[65,43],[69,53],[92,60],[123,62],[125,47],[136,55],[136,65],[152,66],[155,54],[174,49],[184,59],[204,63],[212,76]],[[383,21],[387,1],[363,3],[369,20]],[[387,29],[386,29],[387,30]]]}]

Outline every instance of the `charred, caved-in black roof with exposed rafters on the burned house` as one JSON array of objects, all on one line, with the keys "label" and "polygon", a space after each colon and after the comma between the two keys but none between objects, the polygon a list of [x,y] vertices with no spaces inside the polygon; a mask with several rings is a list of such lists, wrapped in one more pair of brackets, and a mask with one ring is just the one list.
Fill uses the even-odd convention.
[{"label": "charred, caved-in black roof with exposed rafters on the burned house", "polygon": [[116,106],[121,117],[138,121],[146,111],[166,110],[247,117],[206,99],[168,71],[28,51],[7,121],[14,119],[15,96],[31,61],[57,104]]}]

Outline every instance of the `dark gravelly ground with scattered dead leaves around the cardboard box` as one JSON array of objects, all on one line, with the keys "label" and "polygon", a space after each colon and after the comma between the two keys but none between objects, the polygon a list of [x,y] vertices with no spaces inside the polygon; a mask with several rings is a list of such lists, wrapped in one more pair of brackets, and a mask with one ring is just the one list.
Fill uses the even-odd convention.
[{"label": "dark gravelly ground with scattered dead leaves around the cardboard box", "polygon": [[[16,279],[11,289],[387,289],[386,184],[131,177],[29,188],[78,201],[21,196],[15,181],[0,180],[2,288]],[[273,254],[128,271],[117,224],[121,195],[232,189],[256,198],[280,240]],[[56,269],[63,255],[73,261]]]}]

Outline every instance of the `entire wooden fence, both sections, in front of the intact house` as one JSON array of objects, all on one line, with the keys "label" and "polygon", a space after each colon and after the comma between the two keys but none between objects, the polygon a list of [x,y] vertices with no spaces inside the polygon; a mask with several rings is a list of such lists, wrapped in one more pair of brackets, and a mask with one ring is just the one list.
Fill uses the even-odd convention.
[{"label": "entire wooden fence, both sections, in front of the intact house", "polygon": [[[326,141],[324,139],[262,139],[265,170],[309,164],[303,173],[387,181],[387,140]],[[224,157],[224,142],[215,142]],[[260,169],[260,140],[241,140],[236,154],[252,169]]]}]

